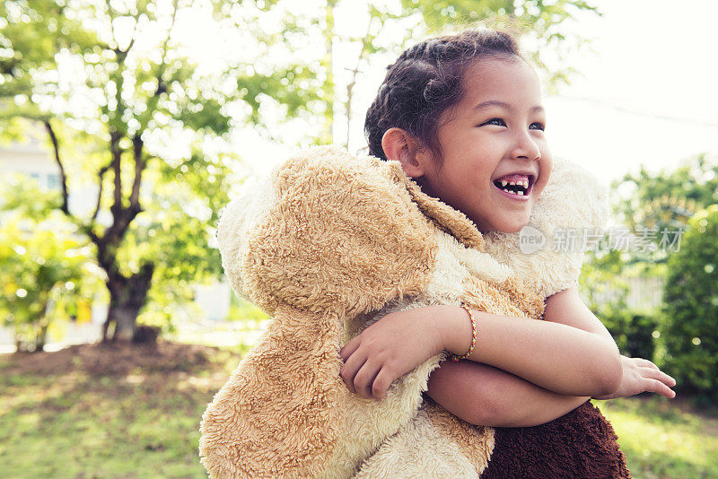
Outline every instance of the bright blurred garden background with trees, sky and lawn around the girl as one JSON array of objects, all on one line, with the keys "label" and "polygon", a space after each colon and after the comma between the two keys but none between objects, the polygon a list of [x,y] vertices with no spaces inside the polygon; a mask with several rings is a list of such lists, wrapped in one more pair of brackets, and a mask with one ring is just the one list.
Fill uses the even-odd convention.
[{"label": "bright blurred garden background with trees, sky and lawn around the girl", "polygon": [[547,138],[609,187],[582,295],[679,396],[598,401],[635,477],[718,477],[711,0],[4,0],[0,470],[204,477],[198,422],[267,327],[215,225],[310,144],[362,151],[386,67],[520,29]]}]

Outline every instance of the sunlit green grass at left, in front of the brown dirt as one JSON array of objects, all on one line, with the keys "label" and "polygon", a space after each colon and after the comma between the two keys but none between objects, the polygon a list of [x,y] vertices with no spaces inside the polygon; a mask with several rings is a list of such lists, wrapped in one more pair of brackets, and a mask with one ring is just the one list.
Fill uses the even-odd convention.
[{"label": "sunlit green grass at left, in front of the brown dirt", "polygon": [[199,420],[237,361],[220,352],[206,370],[3,375],[0,476],[206,477]]}]

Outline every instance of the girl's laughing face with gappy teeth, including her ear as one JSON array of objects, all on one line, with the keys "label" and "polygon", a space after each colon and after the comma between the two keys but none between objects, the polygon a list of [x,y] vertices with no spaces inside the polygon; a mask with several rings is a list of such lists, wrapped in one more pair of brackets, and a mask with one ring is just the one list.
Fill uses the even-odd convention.
[{"label": "girl's laughing face with gappy teeth, including her ear", "polygon": [[439,120],[441,166],[429,149],[416,153],[419,182],[479,231],[519,231],[551,174],[538,78],[523,60],[486,59],[468,68],[464,87]]}]

